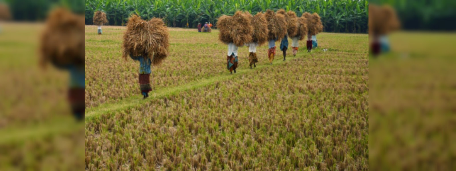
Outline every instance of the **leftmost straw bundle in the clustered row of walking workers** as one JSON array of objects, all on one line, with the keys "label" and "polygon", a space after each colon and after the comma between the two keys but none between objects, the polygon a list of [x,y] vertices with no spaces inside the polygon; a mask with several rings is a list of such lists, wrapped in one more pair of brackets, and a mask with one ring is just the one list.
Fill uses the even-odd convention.
[{"label": "leftmost straw bundle in the clustered row of walking workers", "polygon": [[254,28],[251,26],[251,18],[248,12],[241,11],[237,11],[233,16],[219,17],[218,39],[223,43],[234,43],[236,46],[252,42]]}]

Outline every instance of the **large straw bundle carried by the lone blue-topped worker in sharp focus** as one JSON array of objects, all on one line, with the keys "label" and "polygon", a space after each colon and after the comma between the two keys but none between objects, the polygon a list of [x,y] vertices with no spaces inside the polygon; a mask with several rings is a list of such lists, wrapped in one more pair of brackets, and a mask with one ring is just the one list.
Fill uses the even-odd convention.
[{"label": "large straw bundle carried by the lone blue-topped worker in sharp focus", "polygon": [[152,64],[158,65],[168,56],[168,47],[168,28],[161,19],[152,18],[150,21],[144,21],[136,15],[128,19],[123,44],[125,60],[130,54],[147,54],[146,57],[152,60]]}]

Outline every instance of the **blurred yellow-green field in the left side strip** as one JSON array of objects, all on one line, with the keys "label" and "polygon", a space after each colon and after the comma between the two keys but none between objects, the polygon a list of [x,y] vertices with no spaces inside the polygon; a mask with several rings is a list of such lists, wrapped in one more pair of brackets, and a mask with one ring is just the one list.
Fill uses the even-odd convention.
[{"label": "blurred yellow-green field in the left side strip", "polygon": [[67,72],[38,64],[40,23],[2,23],[0,170],[84,169],[84,123],[66,101]]}]

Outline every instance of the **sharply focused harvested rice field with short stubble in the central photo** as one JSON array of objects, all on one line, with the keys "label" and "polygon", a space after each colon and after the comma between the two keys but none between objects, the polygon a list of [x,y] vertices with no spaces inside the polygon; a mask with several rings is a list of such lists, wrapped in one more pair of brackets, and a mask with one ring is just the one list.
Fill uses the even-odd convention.
[{"label": "sharply focused harvested rice field with short stubble in the central photo", "polygon": [[239,47],[231,75],[218,30],[169,28],[170,55],[142,99],[125,27],[85,31],[87,171],[369,168],[367,34],[321,33],[312,53],[300,41],[272,65],[263,45],[254,69]]}]

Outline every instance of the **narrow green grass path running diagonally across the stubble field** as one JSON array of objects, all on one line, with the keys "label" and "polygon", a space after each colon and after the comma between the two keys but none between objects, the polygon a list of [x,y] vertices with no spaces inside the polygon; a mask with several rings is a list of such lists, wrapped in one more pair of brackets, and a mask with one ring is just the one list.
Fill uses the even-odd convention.
[{"label": "narrow green grass path running diagonally across the stubble field", "polygon": [[[302,53],[304,53],[304,52],[302,52]],[[253,69],[250,69],[250,68],[248,68],[248,69],[238,69],[237,73],[233,73],[233,74],[228,73],[228,70],[226,70],[227,72],[224,73],[223,75],[219,75],[219,76],[215,76],[215,77],[211,77],[211,78],[206,78],[206,79],[193,81],[193,82],[190,82],[190,83],[187,83],[187,84],[183,84],[183,85],[180,85],[180,86],[176,86],[176,87],[161,88],[161,89],[158,89],[158,90],[154,90],[154,91],[152,91],[149,94],[149,98],[146,98],[146,99],[142,99],[142,96],[140,96],[140,95],[135,95],[135,96],[131,96],[131,97],[128,97],[128,98],[124,98],[120,102],[100,104],[100,105],[98,105],[96,107],[86,109],[85,120],[88,121],[90,119],[93,119],[93,117],[100,116],[100,115],[103,115],[103,114],[112,114],[115,111],[127,110],[127,109],[130,109],[130,108],[134,108],[134,107],[137,107],[137,106],[139,106],[141,104],[145,104],[150,99],[169,97],[169,96],[176,95],[176,94],[178,94],[180,92],[183,92],[183,91],[188,91],[188,90],[193,90],[193,89],[197,89],[197,88],[202,88],[202,87],[217,83],[219,81],[224,81],[224,80],[228,80],[230,78],[235,78],[235,77],[244,75],[246,73],[254,72],[254,71],[259,70],[261,68],[281,65],[281,64],[283,64],[285,62],[288,62],[290,60],[293,60],[293,59],[296,59],[296,58],[299,58],[299,57],[307,57],[307,56],[313,55],[313,54],[307,54],[307,53],[302,55],[302,53],[301,53],[301,55],[299,53],[296,54],[296,57],[289,56],[289,57],[287,57],[286,61],[282,60],[282,56],[276,56],[276,58],[273,61],[272,65],[269,65],[269,64],[264,65],[263,64],[263,65],[257,65],[257,67],[255,67]],[[278,59],[280,59],[280,60],[278,60]]]}]

